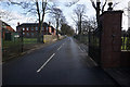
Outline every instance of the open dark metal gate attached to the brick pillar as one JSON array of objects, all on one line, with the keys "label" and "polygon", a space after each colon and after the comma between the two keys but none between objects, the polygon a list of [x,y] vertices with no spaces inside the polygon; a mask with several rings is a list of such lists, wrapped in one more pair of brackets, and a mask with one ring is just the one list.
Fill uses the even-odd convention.
[{"label": "open dark metal gate attached to the brick pillar", "polygon": [[101,63],[101,28],[89,30],[89,55],[100,65]]}]

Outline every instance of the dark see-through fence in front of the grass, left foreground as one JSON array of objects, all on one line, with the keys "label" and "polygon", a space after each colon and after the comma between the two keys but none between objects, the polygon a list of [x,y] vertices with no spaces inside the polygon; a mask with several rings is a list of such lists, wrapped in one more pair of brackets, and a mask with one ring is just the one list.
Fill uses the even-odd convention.
[{"label": "dark see-through fence in front of the grass, left foreground", "polygon": [[22,39],[17,33],[10,33],[10,36],[5,38],[2,38],[2,61],[20,54],[22,51],[26,51],[37,44],[37,38],[23,37]]}]

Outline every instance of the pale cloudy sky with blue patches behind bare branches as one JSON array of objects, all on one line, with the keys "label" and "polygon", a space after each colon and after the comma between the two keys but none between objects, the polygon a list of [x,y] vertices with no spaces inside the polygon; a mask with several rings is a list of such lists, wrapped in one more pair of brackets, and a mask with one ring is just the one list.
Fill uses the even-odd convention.
[{"label": "pale cloudy sky with blue patches behind bare branches", "polygon": [[[72,25],[73,27],[75,27],[75,24],[72,20],[72,16],[74,15],[73,10],[75,9],[76,4],[84,4],[87,7],[86,14],[89,17],[95,16],[95,11],[91,5],[90,0],[79,0],[79,2],[74,4],[73,7],[65,7],[65,4],[68,1],[70,2],[74,0],[50,0],[50,1],[58,4],[58,8],[63,10],[64,15],[66,16],[68,24]],[[104,1],[104,0],[101,0],[101,1]],[[117,4],[114,8],[114,10],[123,10],[125,8],[128,8],[128,1],[130,1],[130,0],[113,0],[113,1],[119,2],[119,4]],[[5,0],[4,0],[4,2],[5,2]],[[107,10],[107,7],[105,10]],[[21,24],[22,23],[32,23],[32,22],[36,22],[36,20],[37,20],[36,16],[21,14],[22,12],[24,12],[24,10],[17,5],[10,5],[9,7],[4,3],[1,3],[0,4],[0,12],[8,13],[6,15],[4,14],[4,16],[1,17],[1,20],[9,23],[14,29],[16,29],[17,22],[20,22]],[[128,28],[128,16],[125,14],[127,14],[127,11],[125,11],[125,13],[123,13],[122,28],[127,29]],[[9,21],[9,18],[11,18],[11,17],[13,17],[13,18],[11,21]],[[49,22],[49,21],[51,21],[50,17],[48,15],[46,15],[44,22]]]}]

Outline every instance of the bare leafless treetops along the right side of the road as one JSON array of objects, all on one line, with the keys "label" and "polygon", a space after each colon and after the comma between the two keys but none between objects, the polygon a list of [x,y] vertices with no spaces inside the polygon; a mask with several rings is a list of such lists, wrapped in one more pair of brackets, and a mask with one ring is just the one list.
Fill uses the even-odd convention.
[{"label": "bare leafless treetops along the right side of the road", "polygon": [[[73,1],[70,3],[68,3],[67,7],[72,7],[74,4],[76,4],[79,0]],[[100,22],[99,22],[99,17],[100,14],[102,14],[105,11],[105,7],[108,3],[108,0],[90,0],[92,3],[93,9],[95,10],[95,17],[91,17],[88,18],[88,16],[86,15],[87,13],[87,9],[84,4],[78,4],[76,7],[76,9],[74,9],[74,14],[75,16],[73,16],[73,20],[77,26],[77,32],[78,35],[82,35],[86,34],[87,32],[93,30],[95,28],[99,27]],[[112,8],[115,8],[115,5],[117,5],[119,2],[116,1],[114,2]]]}]

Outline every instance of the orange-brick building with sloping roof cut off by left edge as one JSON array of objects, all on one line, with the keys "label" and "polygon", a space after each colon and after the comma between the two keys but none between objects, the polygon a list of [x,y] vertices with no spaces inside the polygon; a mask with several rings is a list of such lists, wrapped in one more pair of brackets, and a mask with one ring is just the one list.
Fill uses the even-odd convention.
[{"label": "orange-brick building with sloping roof cut off by left edge", "polygon": [[15,30],[5,22],[1,21],[1,24],[2,24],[1,26],[2,27],[2,39],[11,40],[11,34],[14,33]]}]

